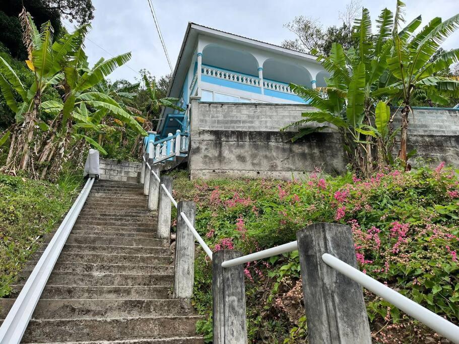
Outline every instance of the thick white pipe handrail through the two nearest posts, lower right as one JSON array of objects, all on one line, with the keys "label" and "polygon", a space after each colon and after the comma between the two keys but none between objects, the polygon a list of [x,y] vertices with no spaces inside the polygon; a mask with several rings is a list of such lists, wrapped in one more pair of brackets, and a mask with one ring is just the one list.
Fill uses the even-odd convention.
[{"label": "thick white pipe handrail through the two nearest posts, lower right", "polygon": [[[296,250],[298,250],[298,243],[297,241],[292,241],[284,245],[272,247],[263,251],[224,261],[222,266],[236,266],[239,264],[248,263],[250,261],[268,258]],[[355,267],[345,263],[341,259],[338,259],[329,253],[324,253],[322,255],[322,260],[325,264],[343,273],[346,277],[357,282],[372,293],[381,297],[383,300],[390,302],[392,305],[398,307],[406,314],[421,321],[437,333],[452,340],[455,343],[459,343],[459,327],[454,325],[452,322],[449,322],[448,320],[442,318],[441,316],[414,302],[413,300],[410,300],[395,290],[383,285],[382,283],[376,281]]]}]

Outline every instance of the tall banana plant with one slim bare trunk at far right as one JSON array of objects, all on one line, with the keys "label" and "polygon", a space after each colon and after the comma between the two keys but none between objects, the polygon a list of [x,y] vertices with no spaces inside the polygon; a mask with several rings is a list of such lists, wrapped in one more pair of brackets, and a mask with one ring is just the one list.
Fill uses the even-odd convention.
[{"label": "tall banana plant with one slim bare trunk at far right", "polygon": [[[399,0],[397,13],[402,13],[404,6],[405,4]],[[421,18],[418,18],[414,24],[416,28],[421,24]],[[403,21],[403,17],[398,15],[396,22]],[[418,33],[414,33],[414,29],[397,32],[397,26],[393,32],[394,44],[391,54],[387,57],[387,63],[391,87],[401,90],[402,127],[399,157],[405,164],[408,160],[408,116],[413,113],[411,100],[416,92],[423,90],[433,103],[440,105],[446,104],[449,97],[459,95],[457,80],[435,76],[436,72],[448,68],[459,60],[459,49],[451,49],[441,54],[435,61],[429,61],[441,43],[458,27],[459,14],[456,14],[445,21],[436,17]]]}]

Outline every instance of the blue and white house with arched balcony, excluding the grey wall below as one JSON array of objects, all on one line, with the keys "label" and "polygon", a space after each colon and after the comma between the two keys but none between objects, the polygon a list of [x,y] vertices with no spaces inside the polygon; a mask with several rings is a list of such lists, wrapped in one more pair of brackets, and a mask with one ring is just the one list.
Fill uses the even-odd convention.
[{"label": "blue and white house with arched balcony, excluding the grey wall below", "polygon": [[[270,43],[189,23],[168,96],[186,107],[190,98],[216,103],[303,104],[290,83],[324,86],[327,73],[316,57]],[[186,129],[185,114],[165,108],[161,138]]]}]

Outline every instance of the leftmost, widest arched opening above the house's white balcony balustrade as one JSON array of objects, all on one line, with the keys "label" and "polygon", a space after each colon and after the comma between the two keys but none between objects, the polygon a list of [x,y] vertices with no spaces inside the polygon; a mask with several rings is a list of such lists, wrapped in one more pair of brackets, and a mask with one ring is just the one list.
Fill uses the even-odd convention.
[{"label": "leftmost, widest arched opening above the house's white balcony balustrade", "polygon": [[203,49],[202,63],[232,72],[258,76],[258,62],[252,54],[216,44],[210,44]]}]

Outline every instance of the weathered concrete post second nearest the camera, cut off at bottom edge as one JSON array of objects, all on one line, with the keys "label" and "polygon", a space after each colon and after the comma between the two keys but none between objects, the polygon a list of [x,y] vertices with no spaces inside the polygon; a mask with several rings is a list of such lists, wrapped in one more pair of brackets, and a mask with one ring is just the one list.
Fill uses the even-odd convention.
[{"label": "weathered concrete post second nearest the camera, cut off at bottom edge", "polygon": [[246,344],[245,285],[242,265],[222,267],[222,262],[242,256],[220,250],[212,256],[214,344]]}]

